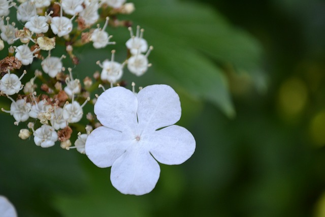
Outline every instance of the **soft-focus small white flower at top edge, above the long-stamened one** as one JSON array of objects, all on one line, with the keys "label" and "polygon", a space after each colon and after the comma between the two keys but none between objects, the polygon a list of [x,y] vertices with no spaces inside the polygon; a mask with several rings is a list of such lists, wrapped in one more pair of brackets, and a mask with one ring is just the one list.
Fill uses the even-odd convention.
[{"label": "soft-focus small white flower at top edge, above the long-stamened one", "polygon": [[100,15],[98,14],[98,1],[85,1],[86,8],[80,12],[79,16],[85,21],[86,25],[94,24]]}]

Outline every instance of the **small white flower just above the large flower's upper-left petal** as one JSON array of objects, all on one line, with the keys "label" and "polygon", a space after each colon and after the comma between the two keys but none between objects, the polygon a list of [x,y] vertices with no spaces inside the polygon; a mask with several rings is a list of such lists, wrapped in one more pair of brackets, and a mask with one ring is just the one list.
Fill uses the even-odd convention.
[{"label": "small white flower just above the large flower's upper-left petal", "polygon": [[97,64],[103,69],[101,73],[102,81],[115,83],[123,75],[123,67],[125,65],[125,62],[123,64],[117,63],[116,61],[114,61],[114,56],[115,50],[112,50],[111,60],[106,59],[103,61],[102,64],[99,61],[97,62]]}]

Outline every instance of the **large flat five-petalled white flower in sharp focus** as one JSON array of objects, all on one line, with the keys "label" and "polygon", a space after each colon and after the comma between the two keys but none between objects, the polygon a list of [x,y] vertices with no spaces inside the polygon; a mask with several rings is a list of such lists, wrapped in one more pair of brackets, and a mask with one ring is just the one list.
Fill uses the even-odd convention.
[{"label": "large flat five-petalled white flower in sharp focus", "polygon": [[98,98],[94,112],[104,127],[90,133],[86,154],[98,167],[112,166],[112,184],[123,194],[153,190],[160,173],[156,160],[181,164],[194,152],[191,133],[173,125],[181,106],[168,85],[147,86],[137,96],[124,87],[110,88]]}]

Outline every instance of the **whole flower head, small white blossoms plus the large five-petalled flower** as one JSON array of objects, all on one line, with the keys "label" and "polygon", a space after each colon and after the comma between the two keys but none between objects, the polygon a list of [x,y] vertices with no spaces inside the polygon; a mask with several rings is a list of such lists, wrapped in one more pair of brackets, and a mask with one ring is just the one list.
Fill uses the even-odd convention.
[{"label": "whole flower head, small white blossoms plus the large five-petalled flower", "polygon": [[[17,24],[9,17],[15,9]],[[32,136],[44,148],[57,141],[64,149],[76,148],[95,165],[112,166],[111,180],[120,192],[142,195],[158,180],[155,160],[181,164],[192,155],[195,141],[186,129],[174,125],[181,107],[171,87],[152,85],[139,88],[139,93],[134,83],[133,91],[122,87],[124,66],[136,76],[151,66],[153,47],[143,38],[144,29],[137,26],[134,35],[130,21],[117,19],[134,10],[125,0],[0,0],[0,50],[8,48],[0,60],[0,96],[11,102],[2,111],[13,116],[15,125],[26,126],[19,131],[21,139]],[[110,59],[96,61],[101,73],[89,72],[92,76],[80,80],[78,71],[67,67],[69,59],[78,65],[74,50],[88,43],[94,49],[115,44],[109,25],[130,32],[125,59],[116,61],[116,51],[111,50]],[[56,47],[66,51],[53,55]],[[30,72],[34,64],[39,68]],[[102,87],[103,94],[93,94],[96,87]],[[94,105],[95,115],[84,115],[86,104]],[[81,125],[82,119],[88,123]]]}]

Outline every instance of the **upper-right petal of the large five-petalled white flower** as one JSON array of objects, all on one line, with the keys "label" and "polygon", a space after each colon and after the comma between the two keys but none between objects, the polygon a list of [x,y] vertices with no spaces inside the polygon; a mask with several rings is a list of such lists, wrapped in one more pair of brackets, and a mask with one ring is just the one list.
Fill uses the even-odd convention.
[{"label": "upper-right petal of the large five-petalled white flower", "polygon": [[147,86],[139,91],[137,98],[140,129],[154,131],[173,125],[181,117],[179,97],[168,85]]}]

